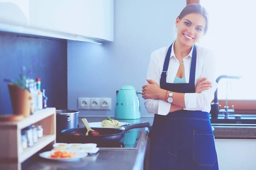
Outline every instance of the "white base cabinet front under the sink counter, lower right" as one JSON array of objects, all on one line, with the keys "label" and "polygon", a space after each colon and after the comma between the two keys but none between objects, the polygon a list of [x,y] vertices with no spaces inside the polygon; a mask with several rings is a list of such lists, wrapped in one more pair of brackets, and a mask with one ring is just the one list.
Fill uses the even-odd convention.
[{"label": "white base cabinet front under the sink counter, lower right", "polygon": [[256,139],[215,139],[219,170],[255,170]]}]

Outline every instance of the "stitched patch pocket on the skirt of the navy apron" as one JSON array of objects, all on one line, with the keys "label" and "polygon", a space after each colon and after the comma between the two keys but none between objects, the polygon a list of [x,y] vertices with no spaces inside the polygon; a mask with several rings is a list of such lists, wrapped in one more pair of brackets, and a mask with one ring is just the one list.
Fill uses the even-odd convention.
[{"label": "stitched patch pocket on the skirt of the navy apron", "polygon": [[193,131],[193,159],[199,166],[214,166],[217,154],[213,134]]}]

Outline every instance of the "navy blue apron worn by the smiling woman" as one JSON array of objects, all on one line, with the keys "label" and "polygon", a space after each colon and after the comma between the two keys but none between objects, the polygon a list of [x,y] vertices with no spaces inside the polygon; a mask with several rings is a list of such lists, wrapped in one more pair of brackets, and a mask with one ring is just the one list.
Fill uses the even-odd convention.
[{"label": "navy blue apron worn by the smiling woman", "polygon": [[[189,83],[166,82],[171,51],[172,45],[166,54],[160,87],[177,93],[195,93],[195,45]],[[151,130],[150,170],[218,170],[209,113],[182,110],[166,116],[155,114]]]}]

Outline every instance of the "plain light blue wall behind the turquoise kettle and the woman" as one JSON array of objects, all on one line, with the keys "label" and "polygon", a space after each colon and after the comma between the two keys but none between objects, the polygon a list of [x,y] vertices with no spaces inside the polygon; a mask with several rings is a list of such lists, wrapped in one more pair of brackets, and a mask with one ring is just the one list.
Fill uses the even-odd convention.
[{"label": "plain light blue wall behind the turquoise kettle and the woman", "polygon": [[[115,0],[114,42],[68,42],[68,108],[78,109],[78,97],[111,97],[111,111],[80,115],[114,115],[116,90],[142,89],[151,52],[173,42],[175,19],[185,6],[186,0]],[[139,98],[141,114],[148,115]]]}]

